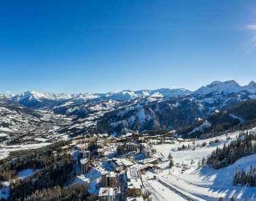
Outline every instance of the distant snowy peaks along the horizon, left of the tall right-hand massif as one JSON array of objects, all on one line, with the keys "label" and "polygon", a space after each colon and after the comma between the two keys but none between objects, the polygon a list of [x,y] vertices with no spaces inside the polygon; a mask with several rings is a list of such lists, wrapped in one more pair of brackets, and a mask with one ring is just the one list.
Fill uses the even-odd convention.
[{"label": "distant snowy peaks along the horizon, left of the tall right-hand massif", "polygon": [[[55,107],[63,104],[66,101],[99,101],[99,100],[115,100],[115,101],[129,101],[137,98],[152,97],[176,97],[184,94],[189,94],[191,91],[184,89],[159,89],[159,90],[140,90],[130,91],[124,90],[119,93],[80,93],[80,94],[55,94],[55,93],[39,93],[38,91],[27,91],[25,93],[16,94],[11,96],[12,101],[19,102],[20,104],[30,108],[43,108]],[[155,99],[154,99],[155,100]]]}]

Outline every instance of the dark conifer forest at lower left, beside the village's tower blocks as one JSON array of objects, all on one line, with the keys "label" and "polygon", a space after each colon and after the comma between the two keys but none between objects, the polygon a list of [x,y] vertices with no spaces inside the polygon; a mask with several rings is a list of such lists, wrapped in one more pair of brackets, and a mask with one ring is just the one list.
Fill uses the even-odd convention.
[{"label": "dark conifer forest at lower left, beside the village's tower blocks", "polygon": [[[61,149],[70,143],[60,141],[40,149],[13,152],[1,160],[0,186],[10,182],[8,200],[97,200],[97,196],[88,194],[86,184],[72,185],[77,164],[73,155]],[[34,174],[19,178],[18,172],[25,169],[34,169]]]}]

